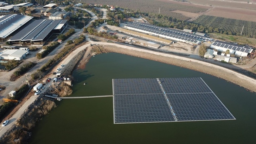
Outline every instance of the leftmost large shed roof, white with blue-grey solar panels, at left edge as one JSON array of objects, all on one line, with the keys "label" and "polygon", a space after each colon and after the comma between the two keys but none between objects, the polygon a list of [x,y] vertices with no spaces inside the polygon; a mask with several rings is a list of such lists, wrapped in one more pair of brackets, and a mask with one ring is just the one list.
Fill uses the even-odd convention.
[{"label": "leftmost large shed roof, white with blue-grey solar panels, at left edge", "polygon": [[0,21],[0,38],[8,37],[32,18],[30,16],[12,14],[7,19]]}]

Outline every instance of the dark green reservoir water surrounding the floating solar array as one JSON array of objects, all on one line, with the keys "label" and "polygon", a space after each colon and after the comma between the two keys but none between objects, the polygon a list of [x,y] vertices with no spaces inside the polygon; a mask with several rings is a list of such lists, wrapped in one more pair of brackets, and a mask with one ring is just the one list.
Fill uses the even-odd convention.
[{"label": "dark green reservoir water surrounding the floating solar array", "polygon": [[72,96],[111,95],[112,78],[201,77],[236,120],[113,124],[113,98],[64,99],[37,124],[31,144],[256,143],[256,94],[223,79],[117,53],[92,57],[73,77]]}]

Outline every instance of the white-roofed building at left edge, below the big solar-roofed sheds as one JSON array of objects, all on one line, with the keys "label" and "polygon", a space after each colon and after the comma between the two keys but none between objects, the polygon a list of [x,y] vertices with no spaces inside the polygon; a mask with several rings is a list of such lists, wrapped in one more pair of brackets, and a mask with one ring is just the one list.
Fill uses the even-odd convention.
[{"label": "white-roofed building at left edge, below the big solar-roofed sheds", "polygon": [[0,59],[22,60],[26,58],[27,54],[26,50],[4,50],[0,52]]}]

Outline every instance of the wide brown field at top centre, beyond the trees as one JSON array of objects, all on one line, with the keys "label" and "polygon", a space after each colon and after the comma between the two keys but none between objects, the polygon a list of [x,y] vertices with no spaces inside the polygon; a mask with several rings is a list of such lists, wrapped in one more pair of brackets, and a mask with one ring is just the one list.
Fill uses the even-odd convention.
[{"label": "wide brown field at top centre, beyond the trees", "polygon": [[160,8],[160,14],[168,17],[176,18],[178,20],[188,20],[190,17],[186,17],[181,13],[175,13],[172,11],[184,11],[190,13],[205,12],[210,7],[201,7],[188,5],[184,2],[175,2],[168,0],[86,0],[81,1],[90,4],[102,4],[102,5],[114,5],[115,7],[129,8],[133,11],[143,13],[158,13]]}]

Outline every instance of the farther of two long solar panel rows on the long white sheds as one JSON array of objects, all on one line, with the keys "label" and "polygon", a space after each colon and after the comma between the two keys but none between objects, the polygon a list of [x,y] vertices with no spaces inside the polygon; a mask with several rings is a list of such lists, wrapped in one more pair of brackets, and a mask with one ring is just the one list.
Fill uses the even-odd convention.
[{"label": "farther of two long solar panel rows on the long white sheds", "polygon": [[143,26],[143,27],[148,27],[148,28],[154,27],[155,29],[160,30],[160,31],[171,32],[171,33],[178,34],[178,35],[181,35],[181,36],[186,36],[186,37],[189,37],[189,38],[199,39],[199,40],[203,40],[203,41],[211,41],[212,40],[212,39],[209,39],[209,38],[206,38],[206,37],[201,37],[201,36],[198,36],[198,35],[195,35],[195,34],[188,34],[188,33],[185,33],[183,31],[170,29],[170,28],[158,27],[158,26],[154,26],[154,25],[151,25],[151,24],[147,24],[147,23],[134,21],[133,24]]}]

